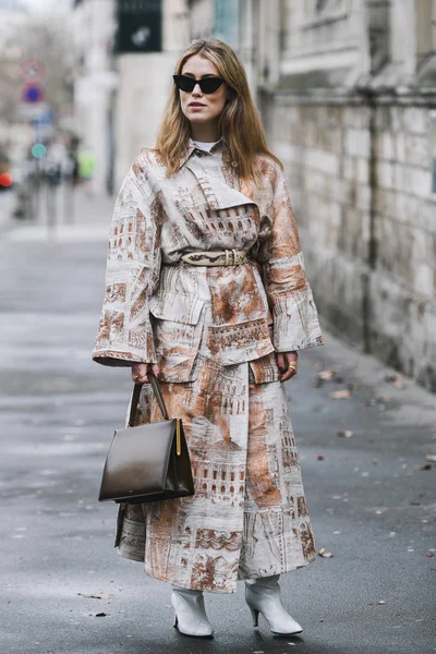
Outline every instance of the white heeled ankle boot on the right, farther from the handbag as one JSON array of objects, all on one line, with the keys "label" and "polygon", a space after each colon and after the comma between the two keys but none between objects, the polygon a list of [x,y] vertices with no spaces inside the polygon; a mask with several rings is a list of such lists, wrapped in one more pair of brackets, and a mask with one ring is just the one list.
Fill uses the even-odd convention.
[{"label": "white heeled ankle boot on the right, farther from the handbag", "polygon": [[300,633],[302,628],[281,603],[279,574],[247,579],[245,581],[245,600],[251,608],[253,625],[258,626],[259,613],[264,616],[272,633],[277,635],[291,635]]}]

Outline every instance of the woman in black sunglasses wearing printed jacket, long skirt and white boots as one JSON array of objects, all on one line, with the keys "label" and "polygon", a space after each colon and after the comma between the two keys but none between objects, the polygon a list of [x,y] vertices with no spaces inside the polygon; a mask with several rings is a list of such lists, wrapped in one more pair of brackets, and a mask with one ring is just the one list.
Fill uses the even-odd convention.
[{"label": "woman in black sunglasses wearing printed jacket, long skirt and white boots", "polygon": [[154,149],[122,185],[94,359],[132,367],[136,424],[182,417],[195,495],[121,505],[116,546],[173,585],[174,625],[211,635],[203,592],[244,579],[254,625],[301,631],[279,574],[316,556],[283,383],[323,344],[282,167],[243,66],[216,39],[175,68]]}]

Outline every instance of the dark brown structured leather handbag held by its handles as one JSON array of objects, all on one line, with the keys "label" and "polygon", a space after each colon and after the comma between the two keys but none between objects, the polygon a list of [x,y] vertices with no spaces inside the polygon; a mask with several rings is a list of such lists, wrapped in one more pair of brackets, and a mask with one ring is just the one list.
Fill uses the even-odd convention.
[{"label": "dark brown structured leather handbag held by its handles", "polygon": [[194,495],[182,420],[168,417],[159,383],[152,373],[148,378],[165,420],[133,426],[141,395],[141,385],[135,384],[129,427],[113,435],[99,501],[137,504]]}]

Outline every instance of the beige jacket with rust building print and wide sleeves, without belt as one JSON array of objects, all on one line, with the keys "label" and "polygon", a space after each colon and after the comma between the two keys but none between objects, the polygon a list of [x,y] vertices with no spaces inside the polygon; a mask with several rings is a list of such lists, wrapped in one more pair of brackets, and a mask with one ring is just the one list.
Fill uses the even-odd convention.
[{"label": "beige jacket with rust building print and wide sleeves, without belt", "polygon": [[[96,361],[159,360],[162,380],[190,380],[194,326],[208,296],[209,348],[223,364],[323,344],[284,174],[264,156],[257,169],[261,186],[239,180],[223,142],[210,153],[191,142],[179,173],[167,179],[156,152],[143,150],[113,213]],[[250,251],[252,261],[172,265],[185,252],[225,249]],[[156,352],[150,313],[183,325],[180,334],[159,325],[165,352]]]}]

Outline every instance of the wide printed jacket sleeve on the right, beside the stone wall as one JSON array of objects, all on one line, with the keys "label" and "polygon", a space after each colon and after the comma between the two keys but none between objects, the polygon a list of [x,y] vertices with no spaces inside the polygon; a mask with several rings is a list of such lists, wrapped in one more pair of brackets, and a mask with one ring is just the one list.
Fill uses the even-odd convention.
[{"label": "wide printed jacket sleeve on the right, beside the stone wall", "polygon": [[278,166],[272,193],[256,258],[262,265],[272,313],[274,347],[277,352],[290,352],[322,346],[324,341],[305,276],[299,230],[284,173]]}]

